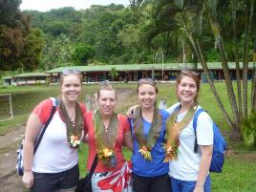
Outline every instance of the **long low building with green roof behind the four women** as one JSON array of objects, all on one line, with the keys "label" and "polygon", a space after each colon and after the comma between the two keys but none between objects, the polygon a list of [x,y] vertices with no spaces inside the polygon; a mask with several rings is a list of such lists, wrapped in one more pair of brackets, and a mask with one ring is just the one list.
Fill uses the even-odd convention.
[{"label": "long low building with green roof behind the four women", "polygon": [[[217,80],[224,79],[223,67],[221,62],[207,63],[212,78]],[[234,62],[228,63],[231,79],[236,79],[236,66]],[[98,82],[102,80],[114,81],[137,81],[141,77],[153,77],[157,80],[174,80],[181,70],[193,70],[195,64],[192,63],[155,63],[155,64],[123,64],[123,65],[89,65],[60,67],[46,72],[50,75],[52,83],[59,82],[60,74],[66,69],[76,69],[81,71],[83,82]],[[197,66],[198,72],[203,77],[201,64]],[[243,64],[240,63],[240,75],[243,76]],[[117,71],[114,78],[110,75],[111,71]],[[253,63],[249,63],[248,79],[252,78]],[[204,76],[205,77],[205,76]]]}]

